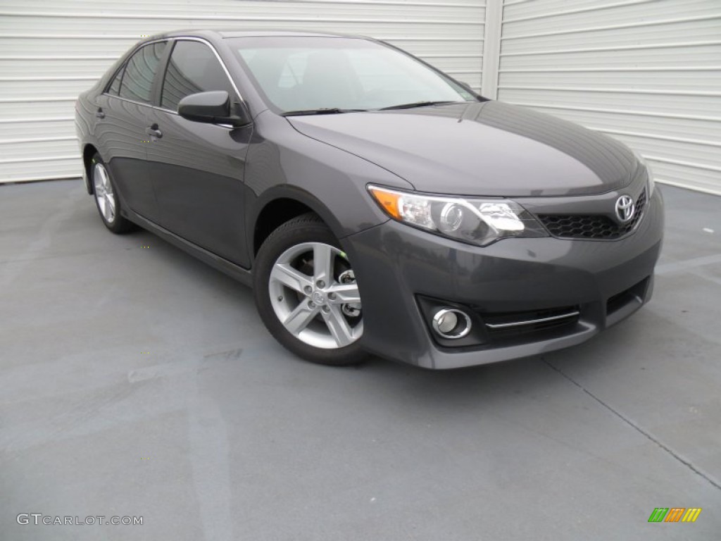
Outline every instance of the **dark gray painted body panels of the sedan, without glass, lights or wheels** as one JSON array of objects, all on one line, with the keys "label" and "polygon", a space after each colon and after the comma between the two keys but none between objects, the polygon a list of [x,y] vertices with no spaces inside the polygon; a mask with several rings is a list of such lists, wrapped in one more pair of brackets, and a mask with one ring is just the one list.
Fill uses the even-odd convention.
[{"label": "dark gray painted body panels of the sedan, without glass, lights or wheels", "polygon": [[[366,317],[362,340],[370,351],[450,368],[570,346],[629,315],[631,307],[607,320],[601,307],[609,296],[653,275],[663,229],[658,190],[639,229],[625,239],[505,239],[485,248],[389,221],[366,193],[372,182],[433,193],[514,196],[533,211],[610,212],[607,206],[617,195],[635,196],[646,185],[642,168],[622,144],[492,101],[283,118],[262,101],[223,35],[177,32],[149,40],[175,36],[213,45],[252,125],[190,123],[160,110],[157,81],[154,107],[107,97],[100,92],[117,64],[79,97],[81,144],[107,157],[128,219],[245,283],[262,209],[289,198],[316,211],[356,269]],[[163,71],[160,66],[159,74]],[[93,116],[97,107],[112,114],[100,121]],[[140,140],[151,127],[164,136],[146,146],[138,143],[134,123],[141,121],[147,126],[138,126]],[[123,141],[115,142],[113,134]],[[141,165],[143,153],[149,167]],[[578,333],[562,339],[451,353],[434,346],[415,294],[500,311],[563,304],[583,304],[584,311]]]}]

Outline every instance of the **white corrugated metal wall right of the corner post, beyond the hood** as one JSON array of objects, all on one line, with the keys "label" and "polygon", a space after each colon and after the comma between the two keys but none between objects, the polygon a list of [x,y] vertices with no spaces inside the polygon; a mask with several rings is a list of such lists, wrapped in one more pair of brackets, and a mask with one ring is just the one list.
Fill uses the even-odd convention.
[{"label": "white corrugated metal wall right of the corner post, beyond the hood", "polygon": [[624,141],[660,182],[721,194],[720,0],[506,0],[502,18],[500,100]]}]

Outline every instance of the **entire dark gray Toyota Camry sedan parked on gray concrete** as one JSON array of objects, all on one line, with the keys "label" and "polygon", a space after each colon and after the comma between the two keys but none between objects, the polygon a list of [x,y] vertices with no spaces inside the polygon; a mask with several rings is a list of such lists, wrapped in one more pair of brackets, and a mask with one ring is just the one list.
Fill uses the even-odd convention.
[{"label": "entire dark gray Toyota Camry sedan parked on gray concrete", "polygon": [[252,286],[309,361],[530,356],[653,290],[663,201],[640,157],[379,40],[156,35],[81,94],[76,129],[107,229]]}]

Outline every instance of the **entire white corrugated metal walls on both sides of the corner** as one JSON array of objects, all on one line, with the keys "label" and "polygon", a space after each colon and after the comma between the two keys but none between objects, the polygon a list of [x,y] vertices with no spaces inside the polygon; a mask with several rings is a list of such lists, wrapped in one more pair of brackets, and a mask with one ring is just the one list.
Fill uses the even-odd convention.
[{"label": "entire white corrugated metal walls on both sides of the corner", "polygon": [[235,26],[372,35],[477,89],[483,67],[487,95],[609,133],[662,182],[721,193],[721,0],[485,4],[3,0],[0,182],[78,175],[73,102],[141,35]]}]

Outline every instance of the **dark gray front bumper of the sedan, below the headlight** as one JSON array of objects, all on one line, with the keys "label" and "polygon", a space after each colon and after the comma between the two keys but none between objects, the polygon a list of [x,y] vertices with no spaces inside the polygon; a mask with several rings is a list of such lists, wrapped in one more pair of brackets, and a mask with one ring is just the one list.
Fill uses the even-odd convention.
[{"label": "dark gray front bumper of the sedan, below the headlight", "polygon": [[[650,299],[662,237],[657,188],[637,230],[615,241],[547,237],[474,247],[386,221],[342,244],[363,298],[363,346],[389,359],[451,369],[574,346],[628,317]],[[521,327],[527,333],[484,331],[473,343],[450,346],[430,330],[426,299],[463,307],[474,327],[513,312],[572,308],[578,317],[552,329]]]}]

